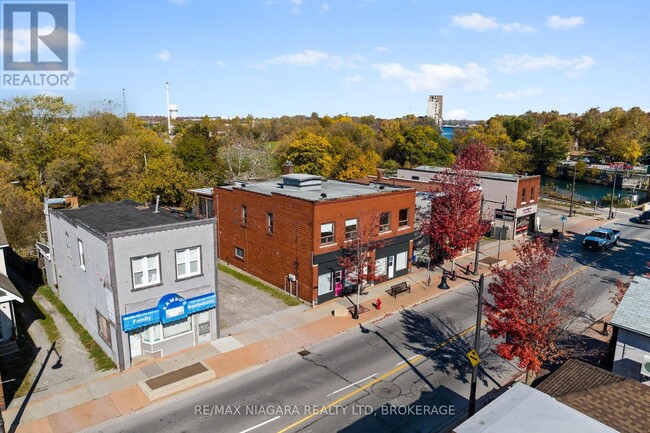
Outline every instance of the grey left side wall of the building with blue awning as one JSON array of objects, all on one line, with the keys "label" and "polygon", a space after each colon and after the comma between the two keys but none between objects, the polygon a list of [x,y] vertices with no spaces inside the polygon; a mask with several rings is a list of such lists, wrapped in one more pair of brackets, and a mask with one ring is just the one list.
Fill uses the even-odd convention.
[{"label": "grey left side wall of the building with blue awning", "polygon": [[[52,256],[55,257],[56,262],[52,262],[53,266],[46,266],[48,284],[102,350],[118,364],[118,351],[115,344],[117,319],[112,298],[106,242],[83,227],[73,225],[61,218],[58,212],[50,210],[49,221],[52,234],[50,245],[57,250],[51,249],[51,253],[55,253]],[[69,254],[66,233],[70,240]],[[78,239],[83,242],[85,270],[80,267]],[[51,278],[52,272],[56,272],[55,278]],[[56,286],[51,281],[56,281]],[[99,336],[97,312],[111,321],[110,345]]]}]

